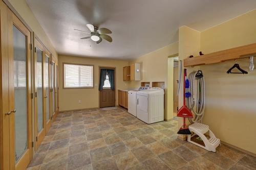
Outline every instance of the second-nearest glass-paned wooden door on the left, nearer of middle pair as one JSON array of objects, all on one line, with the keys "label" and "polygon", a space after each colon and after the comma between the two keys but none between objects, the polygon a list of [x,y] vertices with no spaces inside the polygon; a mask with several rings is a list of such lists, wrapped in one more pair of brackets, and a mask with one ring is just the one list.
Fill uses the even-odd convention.
[{"label": "second-nearest glass-paned wooden door on the left, nearer of middle pair", "polygon": [[46,113],[44,110],[44,46],[35,38],[34,92],[35,92],[35,148],[38,149],[46,135]]}]

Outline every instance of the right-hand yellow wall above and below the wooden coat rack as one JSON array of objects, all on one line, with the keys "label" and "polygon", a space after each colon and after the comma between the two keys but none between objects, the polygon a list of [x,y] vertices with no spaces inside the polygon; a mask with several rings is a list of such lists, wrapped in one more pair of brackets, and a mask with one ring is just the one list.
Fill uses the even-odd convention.
[{"label": "right-hand yellow wall above and below the wooden coat rack", "polygon": [[[201,33],[201,50],[211,53],[256,42],[256,10]],[[254,65],[256,58],[254,59]],[[248,70],[249,59],[238,60]],[[256,154],[256,70],[228,75],[234,61],[201,66],[205,77],[203,122],[218,138]]]}]

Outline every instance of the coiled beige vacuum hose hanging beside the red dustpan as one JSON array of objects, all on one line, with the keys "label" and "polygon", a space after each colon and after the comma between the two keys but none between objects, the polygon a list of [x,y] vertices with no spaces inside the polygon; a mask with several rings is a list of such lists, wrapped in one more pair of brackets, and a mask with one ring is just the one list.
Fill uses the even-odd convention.
[{"label": "coiled beige vacuum hose hanging beside the red dustpan", "polygon": [[[188,118],[190,123],[202,122],[204,116],[205,108],[205,82],[202,71],[191,72],[188,75],[188,80],[190,82],[189,92],[191,96],[186,98],[186,105],[194,113],[193,118]],[[194,98],[196,81],[196,99]]]}]

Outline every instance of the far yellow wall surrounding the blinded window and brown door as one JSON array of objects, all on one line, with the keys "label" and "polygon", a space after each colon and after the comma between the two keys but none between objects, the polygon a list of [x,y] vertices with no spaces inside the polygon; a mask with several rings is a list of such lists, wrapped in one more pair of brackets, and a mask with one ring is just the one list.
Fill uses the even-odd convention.
[{"label": "far yellow wall surrounding the blinded window and brown door", "polygon": [[[94,86],[93,89],[63,89],[63,62],[94,65],[94,84],[97,84],[97,86]],[[117,89],[127,88],[126,82],[123,82],[123,66],[129,65],[128,61],[116,61],[59,55],[58,64],[60,111],[99,107],[99,66],[116,67],[116,105],[118,104]],[[78,100],[81,100],[80,104],[78,103]]]}]

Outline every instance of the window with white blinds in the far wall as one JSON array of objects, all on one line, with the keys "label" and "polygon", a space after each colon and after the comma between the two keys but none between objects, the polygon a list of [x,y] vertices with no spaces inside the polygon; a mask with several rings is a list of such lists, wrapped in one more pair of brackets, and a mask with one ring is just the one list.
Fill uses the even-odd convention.
[{"label": "window with white blinds in the far wall", "polygon": [[64,64],[64,88],[92,88],[93,65]]}]

